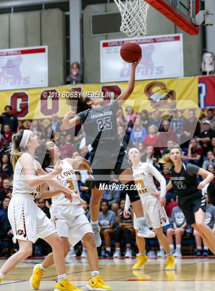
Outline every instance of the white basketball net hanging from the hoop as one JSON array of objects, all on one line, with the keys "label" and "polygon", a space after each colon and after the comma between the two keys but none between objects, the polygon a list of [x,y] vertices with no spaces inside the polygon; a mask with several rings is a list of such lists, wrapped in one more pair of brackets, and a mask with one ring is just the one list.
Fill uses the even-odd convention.
[{"label": "white basketball net hanging from the hoop", "polygon": [[122,16],[120,31],[128,36],[144,36],[147,33],[146,17],[149,4],[144,0],[114,0]]}]

